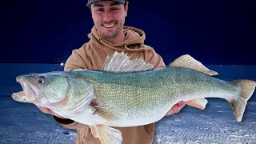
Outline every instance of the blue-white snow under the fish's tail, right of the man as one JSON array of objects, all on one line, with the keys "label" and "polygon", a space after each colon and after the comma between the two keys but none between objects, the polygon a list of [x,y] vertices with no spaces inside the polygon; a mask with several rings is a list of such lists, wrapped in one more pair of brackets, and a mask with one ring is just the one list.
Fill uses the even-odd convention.
[{"label": "blue-white snow under the fish's tail, right of the man", "polygon": [[237,122],[228,102],[219,98],[208,101],[206,110],[186,106],[156,122],[154,143],[256,142],[256,102],[248,102],[242,122]]}]

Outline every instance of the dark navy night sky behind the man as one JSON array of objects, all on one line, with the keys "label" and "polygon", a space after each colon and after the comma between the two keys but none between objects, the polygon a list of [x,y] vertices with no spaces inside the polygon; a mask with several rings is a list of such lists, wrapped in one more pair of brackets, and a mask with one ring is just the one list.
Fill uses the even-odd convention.
[{"label": "dark navy night sky behind the man", "polygon": [[[3,0],[0,63],[60,63],[88,42],[86,0]],[[168,64],[190,54],[206,65],[255,65],[255,1],[130,0],[127,26]]]}]

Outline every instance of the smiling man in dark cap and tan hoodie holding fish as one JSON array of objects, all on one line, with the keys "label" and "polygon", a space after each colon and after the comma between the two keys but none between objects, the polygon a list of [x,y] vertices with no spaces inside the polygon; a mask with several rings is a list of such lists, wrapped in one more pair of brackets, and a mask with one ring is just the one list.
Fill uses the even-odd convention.
[{"label": "smiling man in dark cap and tan hoodie holding fish", "polygon": [[[94,27],[88,34],[90,42],[73,50],[70,58],[66,61],[64,70],[99,70],[102,68],[106,56],[114,54],[114,51],[125,51],[128,55],[132,55],[131,58],[144,58],[146,62],[154,64],[156,68],[165,66],[162,58],[150,46],[144,44],[146,36],[142,30],[124,26],[128,10],[126,0],[89,0],[87,6],[90,8],[94,20]],[[184,102],[178,102],[166,115],[178,113],[184,105]],[[77,129],[76,143],[100,143],[98,138],[94,138],[91,134],[89,126],[62,118],[50,109],[44,107],[39,107],[39,109],[46,114],[54,115],[54,120],[62,126]],[[146,144],[153,142],[154,124],[117,129],[122,132],[122,143]]]}]

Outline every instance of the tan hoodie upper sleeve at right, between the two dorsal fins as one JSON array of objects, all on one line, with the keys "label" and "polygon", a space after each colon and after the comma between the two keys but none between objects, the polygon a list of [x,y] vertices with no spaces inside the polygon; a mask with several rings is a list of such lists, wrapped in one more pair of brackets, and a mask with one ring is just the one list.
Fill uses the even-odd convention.
[{"label": "tan hoodie upper sleeve at right, between the two dorsal fins", "polygon": [[152,48],[146,51],[145,60],[146,62],[154,64],[155,68],[166,67],[166,64],[162,60],[162,57],[157,54]]}]

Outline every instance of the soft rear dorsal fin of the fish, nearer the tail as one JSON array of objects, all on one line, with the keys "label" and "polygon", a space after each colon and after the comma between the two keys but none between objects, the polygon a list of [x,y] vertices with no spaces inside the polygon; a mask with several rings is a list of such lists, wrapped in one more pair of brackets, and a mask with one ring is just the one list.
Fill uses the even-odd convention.
[{"label": "soft rear dorsal fin of the fish, nearer the tail", "polygon": [[192,58],[189,54],[182,55],[181,57],[171,62],[169,66],[176,66],[176,67],[184,67],[188,69],[198,70],[204,74],[218,75],[217,72],[213,70],[209,70],[206,66],[203,66],[201,62],[198,62],[194,58]]}]

